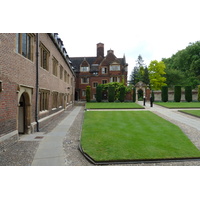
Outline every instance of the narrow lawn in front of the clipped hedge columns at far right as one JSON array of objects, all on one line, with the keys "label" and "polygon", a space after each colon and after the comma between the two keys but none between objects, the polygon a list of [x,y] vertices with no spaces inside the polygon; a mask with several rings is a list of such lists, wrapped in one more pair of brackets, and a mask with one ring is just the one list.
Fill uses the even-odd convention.
[{"label": "narrow lawn in front of the clipped hedge columns at far right", "polygon": [[166,108],[200,108],[200,102],[155,102]]}]

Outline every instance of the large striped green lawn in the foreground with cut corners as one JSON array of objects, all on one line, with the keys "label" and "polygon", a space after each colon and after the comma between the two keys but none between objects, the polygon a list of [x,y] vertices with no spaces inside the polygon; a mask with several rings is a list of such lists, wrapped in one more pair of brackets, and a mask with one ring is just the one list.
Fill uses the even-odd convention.
[{"label": "large striped green lawn in the foreground with cut corners", "polygon": [[200,157],[176,125],[150,111],[87,111],[81,146],[95,161]]}]

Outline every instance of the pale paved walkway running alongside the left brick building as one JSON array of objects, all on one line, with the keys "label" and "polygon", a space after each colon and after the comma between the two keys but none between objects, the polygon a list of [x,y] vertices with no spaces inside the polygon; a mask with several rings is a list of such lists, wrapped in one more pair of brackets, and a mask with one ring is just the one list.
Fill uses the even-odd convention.
[{"label": "pale paved walkway running alongside the left brick building", "polygon": [[[60,124],[50,133],[38,137],[44,137],[34,156],[32,166],[64,166],[66,153],[63,149],[63,140],[68,134],[81,107],[76,107]],[[40,133],[41,134],[41,133]]]}]

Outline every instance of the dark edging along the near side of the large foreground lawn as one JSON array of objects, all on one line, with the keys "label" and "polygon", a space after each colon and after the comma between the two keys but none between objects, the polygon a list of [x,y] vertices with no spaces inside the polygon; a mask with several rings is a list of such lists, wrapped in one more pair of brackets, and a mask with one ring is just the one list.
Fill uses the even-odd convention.
[{"label": "dark edging along the near side of the large foreground lawn", "polygon": [[191,158],[163,158],[163,159],[138,159],[138,160],[107,160],[107,161],[95,161],[91,156],[85,153],[82,149],[81,143],[79,143],[78,150],[82,155],[93,165],[114,165],[114,164],[141,164],[141,163],[160,163],[160,162],[181,162],[181,161],[194,161],[200,160],[200,157]]}]

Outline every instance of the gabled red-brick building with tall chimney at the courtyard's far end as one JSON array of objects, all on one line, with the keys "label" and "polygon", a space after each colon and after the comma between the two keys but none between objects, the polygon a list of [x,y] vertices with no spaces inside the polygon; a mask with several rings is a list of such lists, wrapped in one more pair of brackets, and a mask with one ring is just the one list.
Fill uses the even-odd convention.
[{"label": "gabled red-brick building with tall chimney at the courtyard's far end", "polygon": [[[125,56],[117,58],[113,50],[108,50],[104,56],[104,44],[97,44],[95,57],[71,57],[76,73],[76,100],[86,99],[86,86],[91,87],[91,99],[96,99],[98,84],[109,82],[124,82],[127,84],[128,64]],[[106,98],[106,94],[105,94]]]}]

